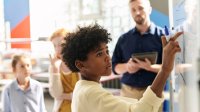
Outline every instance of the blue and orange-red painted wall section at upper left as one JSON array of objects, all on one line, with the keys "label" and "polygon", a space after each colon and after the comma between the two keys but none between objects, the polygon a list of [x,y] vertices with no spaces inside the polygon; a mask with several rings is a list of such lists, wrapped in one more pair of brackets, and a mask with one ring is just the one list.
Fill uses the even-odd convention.
[{"label": "blue and orange-red painted wall section at upper left", "polygon": [[[9,22],[10,38],[30,38],[29,0],[4,0],[5,22]],[[11,43],[11,48],[30,49],[30,42]]]}]

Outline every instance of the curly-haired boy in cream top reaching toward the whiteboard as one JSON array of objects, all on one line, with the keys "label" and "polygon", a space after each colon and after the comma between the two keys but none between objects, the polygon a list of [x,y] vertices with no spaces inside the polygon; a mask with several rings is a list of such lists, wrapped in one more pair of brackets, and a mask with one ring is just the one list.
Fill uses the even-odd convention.
[{"label": "curly-haired boy in cream top reaching toward the whiteboard", "polygon": [[174,57],[181,49],[176,38],[177,33],[167,42],[163,41],[163,65],[153,84],[147,88],[143,97],[137,101],[131,98],[113,96],[100,85],[101,76],[111,74],[111,59],[107,43],[110,34],[95,24],[79,27],[65,38],[63,61],[73,72],[80,72],[82,80],[76,83],[72,112],[157,112],[163,102],[162,91],[172,71]]}]

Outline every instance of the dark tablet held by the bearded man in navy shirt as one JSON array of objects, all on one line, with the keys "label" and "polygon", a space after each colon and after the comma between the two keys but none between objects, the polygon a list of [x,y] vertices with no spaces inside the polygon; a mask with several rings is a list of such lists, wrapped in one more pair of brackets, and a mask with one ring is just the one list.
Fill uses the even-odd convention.
[{"label": "dark tablet held by the bearded man in navy shirt", "polygon": [[156,64],[158,57],[158,52],[143,52],[143,53],[134,53],[132,55],[132,59],[137,58],[141,61],[145,61],[145,58],[147,58],[151,64]]}]

